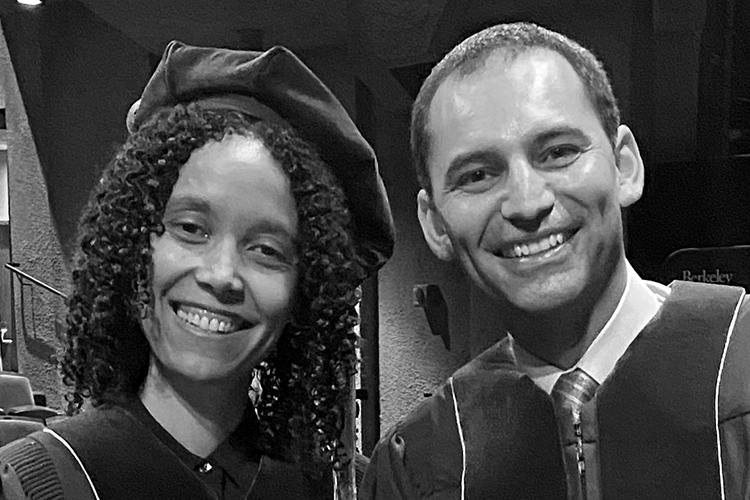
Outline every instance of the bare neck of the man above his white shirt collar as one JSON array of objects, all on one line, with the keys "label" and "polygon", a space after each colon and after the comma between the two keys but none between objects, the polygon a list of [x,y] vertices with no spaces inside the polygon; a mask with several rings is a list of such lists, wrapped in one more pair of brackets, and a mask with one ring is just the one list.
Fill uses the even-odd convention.
[{"label": "bare neck of the man above his white shirt collar", "polygon": [[620,302],[627,284],[625,261],[601,290],[554,310],[508,315],[508,331],[527,352],[567,370],[583,357]]}]

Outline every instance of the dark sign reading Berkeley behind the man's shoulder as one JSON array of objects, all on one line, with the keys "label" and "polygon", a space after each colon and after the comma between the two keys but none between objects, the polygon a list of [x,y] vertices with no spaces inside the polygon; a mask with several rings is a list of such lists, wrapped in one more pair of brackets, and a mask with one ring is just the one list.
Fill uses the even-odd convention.
[{"label": "dark sign reading Berkeley behind the man's shoulder", "polygon": [[698,281],[742,286],[750,292],[750,245],[677,250],[666,258],[662,271],[666,284]]}]

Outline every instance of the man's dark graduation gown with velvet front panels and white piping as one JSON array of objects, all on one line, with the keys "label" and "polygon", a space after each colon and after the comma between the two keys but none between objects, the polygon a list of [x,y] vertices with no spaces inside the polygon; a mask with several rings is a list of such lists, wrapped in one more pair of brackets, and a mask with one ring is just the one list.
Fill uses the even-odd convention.
[{"label": "man's dark graduation gown with velvet front panels and white piping", "polygon": [[[671,288],[581,409],[589,491],[749,499],[750,302],[735,287]],[[381,438],[361,498],[565,500],[565,439],[503,340]]]}]

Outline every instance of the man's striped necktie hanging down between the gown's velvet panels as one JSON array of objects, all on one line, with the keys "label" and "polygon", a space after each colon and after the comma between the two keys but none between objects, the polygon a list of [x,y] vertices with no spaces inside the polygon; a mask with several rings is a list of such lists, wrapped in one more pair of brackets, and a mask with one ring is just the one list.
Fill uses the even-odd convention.
[{"label": "man's striped necktie hanging down between the gown's velvet panels", "polygon": [[581,429],[581,407],[594,397],[599,384],[589,374],[576,368],[560,375],[552,388],[557,425],[560,435],[565,438],[572,433],[573,445],[563,443],[565,472],[568,478],[568,498],[587,500],[586,457],[583,453],[583,432]]}]

